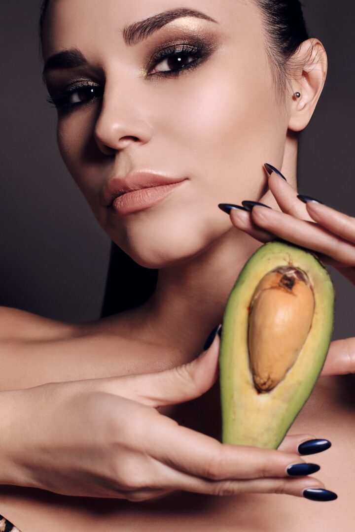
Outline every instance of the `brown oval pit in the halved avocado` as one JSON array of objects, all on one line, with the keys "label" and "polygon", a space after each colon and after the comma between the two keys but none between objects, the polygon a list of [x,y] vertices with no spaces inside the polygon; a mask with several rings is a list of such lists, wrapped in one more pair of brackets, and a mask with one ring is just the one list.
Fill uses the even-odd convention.
[{"label": "brown oval pit in the halved avocado", "polygon": [[259,282],[249,305],[247,343],[253,383],[267,393],[284,380],[309,334],[315,299],[302,270],[283,266]]}]

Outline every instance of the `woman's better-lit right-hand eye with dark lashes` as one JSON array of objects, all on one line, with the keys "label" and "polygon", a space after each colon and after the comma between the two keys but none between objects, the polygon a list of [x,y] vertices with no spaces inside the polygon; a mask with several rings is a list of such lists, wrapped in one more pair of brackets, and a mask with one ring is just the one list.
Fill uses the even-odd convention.
[{"label": "woman's better-lit right-hand eye with dark lashes", "polygon": [[154,68],[149,71],[149,75],[177,75],[187,68],[192,68],[207,56],[204,48],[201,43],[194,46],[186,44],[169,46],[153,57]]}]

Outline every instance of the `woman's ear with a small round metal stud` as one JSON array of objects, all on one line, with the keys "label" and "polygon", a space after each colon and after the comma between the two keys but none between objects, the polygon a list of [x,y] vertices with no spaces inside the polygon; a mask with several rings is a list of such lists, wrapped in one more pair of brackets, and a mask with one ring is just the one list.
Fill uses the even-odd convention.
[{"label": "woman's ear with a small round metal stud", "polygon": [[290,59],[292,90],[301,93],[292,96],[288,128],[301,131],[310,121],[327,76],[327,53],[319,39],[303,41]]}]

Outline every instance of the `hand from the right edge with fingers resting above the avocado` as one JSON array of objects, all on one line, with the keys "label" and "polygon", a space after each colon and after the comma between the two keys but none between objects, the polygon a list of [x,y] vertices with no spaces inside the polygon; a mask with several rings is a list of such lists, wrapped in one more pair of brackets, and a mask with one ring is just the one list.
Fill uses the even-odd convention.
[{"label": "hand from the right edge with fingers resting above the avocado", "polygon": [[[303,203],[276,172],[269,176],[269,189],[282,212],[263,206],[251,212],[232,209],[234,226],[263,243],[278,237],[306,247],[355,284],[355,218],[315,201]],[[355,338],[331,343],[320,376],[344,373],[355,373]]]}]

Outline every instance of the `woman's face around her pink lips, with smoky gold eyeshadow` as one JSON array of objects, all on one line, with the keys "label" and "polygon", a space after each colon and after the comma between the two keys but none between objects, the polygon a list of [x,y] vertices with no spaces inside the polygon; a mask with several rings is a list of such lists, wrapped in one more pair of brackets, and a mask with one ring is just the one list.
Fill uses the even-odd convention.
[{"label": "woman's face around her pink lips, with smoky gold eyeshadow", "polygon": [[[130,42],[122,31],[177,8],[213,20],[180,14]],[[231,228],[218,203],[265,192],[262,165],[281,165],[288,112],[251,0],[52,0],[44,59],[63,51],[45,74],[62,157],[136,262],[162,268],[196,256]],[[111,179],[125,185],[143,170],[185,181],[134,212],[105,204]]]}]

